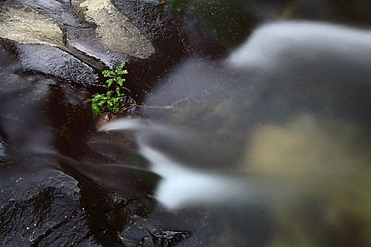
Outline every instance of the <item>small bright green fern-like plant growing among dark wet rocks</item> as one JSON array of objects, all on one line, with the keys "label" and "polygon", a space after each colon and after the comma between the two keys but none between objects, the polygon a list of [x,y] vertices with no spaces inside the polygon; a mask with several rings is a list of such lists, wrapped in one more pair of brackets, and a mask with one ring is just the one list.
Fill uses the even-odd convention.
[{"label": "small bright green fern-like plant growing among dark wet rocks", "polygon": [[103,87],[107,88],[106,93],[96,93],[87,102],[91,102],[91,112],[93,116],[99,116],[102,114],[102,110],[107,108],[112,114],[119,113],[119,103],[124,100],[124,93],[122,90],[127,90],[130,92],[129,88],[124,87],[125,79],[122,75],[127,74],[128,71],[124,70],[125,63],[119,65],[119,67],[114,70],[102,71],[104,77],[109,77],[106,80],[106,84]]}]

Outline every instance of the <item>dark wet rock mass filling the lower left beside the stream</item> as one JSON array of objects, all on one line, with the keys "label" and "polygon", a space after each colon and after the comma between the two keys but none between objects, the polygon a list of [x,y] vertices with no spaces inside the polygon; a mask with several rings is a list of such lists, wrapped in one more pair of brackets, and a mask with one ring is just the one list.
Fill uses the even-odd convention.
[{"label": "dark wet rock mass filling the lower left beside the stream", "polygon": [[149,194],[159,178],[131,135],[92,132],[86,89],[27,75],[1,55],[1,245],[174,246],[209,224],[205,211],[157,205]]}]

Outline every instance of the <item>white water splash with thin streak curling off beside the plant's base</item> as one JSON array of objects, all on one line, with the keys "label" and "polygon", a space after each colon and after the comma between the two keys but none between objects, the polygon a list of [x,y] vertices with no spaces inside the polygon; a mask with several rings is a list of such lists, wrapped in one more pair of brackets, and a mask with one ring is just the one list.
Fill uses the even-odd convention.
[{"label": "white water splash with thin streak curling off beside the plant's base", "polygon": [[163,135],[172,140],[175,131],[172,131],[170,126],[151,126],[139,119],[120,119],[107,123],[100,129],[100,131],[112,130],[142,131],[138,137],[139,152],[151,162],[150,170],[160,175],[161,179],[154,196],[168,209],[179,210],[208,203],[218,205],[247,202],[251,190],[247,182],[241,178],[186,167],[149,145],[150,142],[146,141],[146,138],[151,138],[151,133],[163,132]]}]

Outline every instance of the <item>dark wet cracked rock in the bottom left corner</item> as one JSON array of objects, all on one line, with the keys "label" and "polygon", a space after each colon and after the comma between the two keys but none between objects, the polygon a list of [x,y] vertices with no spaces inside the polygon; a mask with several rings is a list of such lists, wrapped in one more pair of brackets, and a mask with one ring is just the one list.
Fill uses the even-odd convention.
[{"label": "dark wet cracked rock in the bottom left corner", "polygon": [[2,244],[71,245],[88,234],[75,179],[61,171],[45,170],[8,175],[8,184],[4,178],[0,183],[4,198],[0,209]]}]

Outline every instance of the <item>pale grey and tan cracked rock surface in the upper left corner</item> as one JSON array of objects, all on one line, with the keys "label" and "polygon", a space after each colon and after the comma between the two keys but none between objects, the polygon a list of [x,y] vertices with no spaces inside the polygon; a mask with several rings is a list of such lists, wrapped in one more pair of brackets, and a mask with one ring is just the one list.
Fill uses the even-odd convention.
[{"label": "pale grey and tan cracked rock surface in the upper left corner", "polygon": [[6,1],[0,5],[1,43],[20,54],[28,71],[86,85],[97,85],[100,71],[126,61],[127,55],[144,59],[155,52],[110,1],[71,4]]}]

